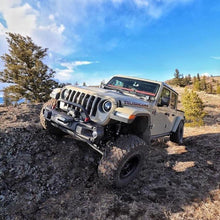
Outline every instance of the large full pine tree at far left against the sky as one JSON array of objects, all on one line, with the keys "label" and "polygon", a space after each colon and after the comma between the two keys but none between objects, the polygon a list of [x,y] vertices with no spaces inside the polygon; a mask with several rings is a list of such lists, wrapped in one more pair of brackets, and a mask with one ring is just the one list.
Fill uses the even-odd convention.
[{"label": "large full pine tree at far left against the sky", "polygon": [[25,98],[31,102],[44,102],[58,83],[53,80],[54,71],[42,60],[47,55],[30,37],[8,33],[9,53],[1,56],[5,69],[0,72],[0,82],[12,83],[7,95],[14,101]]}]

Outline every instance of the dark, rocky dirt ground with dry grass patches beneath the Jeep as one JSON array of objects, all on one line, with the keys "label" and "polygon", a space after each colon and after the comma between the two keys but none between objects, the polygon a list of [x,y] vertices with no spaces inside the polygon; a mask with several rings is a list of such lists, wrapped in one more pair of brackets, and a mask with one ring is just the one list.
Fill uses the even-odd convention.
[{"label": "dark, rocky dirt ground with dry grass patches beneath the Jeep", "polygon": [[140,176],[102,185],[100,156],[42,130],[41,105],[0,107],[0,219],[220,219],[220,125],[149,149]]}]

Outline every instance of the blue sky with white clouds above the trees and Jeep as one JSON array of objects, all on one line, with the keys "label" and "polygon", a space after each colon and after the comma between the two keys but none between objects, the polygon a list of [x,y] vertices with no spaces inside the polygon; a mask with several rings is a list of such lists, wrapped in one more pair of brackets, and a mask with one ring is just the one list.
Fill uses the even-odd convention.
[{"label": "blue sky with white clouds above the trees and Jeep", "polygon": [[6,32],[30,36],[59,82],[220,75],[219,0],[0,1],[0,55]]}]

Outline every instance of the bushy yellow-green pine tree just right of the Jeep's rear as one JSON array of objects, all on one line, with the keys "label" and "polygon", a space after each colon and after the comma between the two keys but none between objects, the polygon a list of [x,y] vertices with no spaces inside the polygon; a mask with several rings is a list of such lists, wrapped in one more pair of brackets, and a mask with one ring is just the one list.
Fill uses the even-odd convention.
[{"label": "bushy yellow-green pine tree just right of the Jeep's rear", "polygon": [[205,117],[204,106],[196,92],[190,92],[186,89],[181,101],[185,112],[186,125],[202,126]]}]

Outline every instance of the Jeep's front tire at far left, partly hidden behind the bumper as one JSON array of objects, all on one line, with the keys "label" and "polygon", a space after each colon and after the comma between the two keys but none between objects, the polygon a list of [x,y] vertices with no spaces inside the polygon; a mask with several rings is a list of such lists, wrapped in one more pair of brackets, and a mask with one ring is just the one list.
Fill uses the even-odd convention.
[{"label": "Jeep's front tire at far left, partly hidden behind the bumper", "polygon": [[62,135],[64,135],[64,132],[62,132],[59,128],[56,128],[53,125],[51,125],[51,123],[49,121],[47,121],[44,117],[45,108],[52,107],[52,106],[56,105],[56,102],[57,102],[56,99],[50,99],[46,103],[44,103],[44,105],[41,109],[41,112],[40,112],[40,123],[41,123],[42,127],[45,130],[48,130],[51,134],[55,134],[57,136],[62,136]]}]

